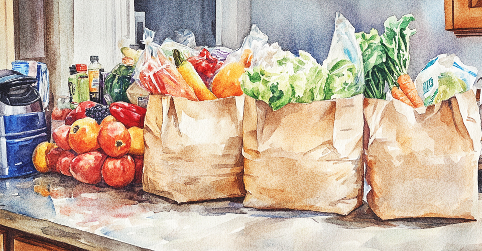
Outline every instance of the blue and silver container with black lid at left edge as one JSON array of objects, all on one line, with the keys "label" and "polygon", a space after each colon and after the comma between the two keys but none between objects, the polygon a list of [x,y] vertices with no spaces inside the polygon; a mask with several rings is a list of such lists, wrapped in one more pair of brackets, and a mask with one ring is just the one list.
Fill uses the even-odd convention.
[{"label": "blue and silver container with black lid at left edge", "polygon": [[35,82],[35,77],[0,70],[0,178],[37,172],[32,154],[50,139]]}]

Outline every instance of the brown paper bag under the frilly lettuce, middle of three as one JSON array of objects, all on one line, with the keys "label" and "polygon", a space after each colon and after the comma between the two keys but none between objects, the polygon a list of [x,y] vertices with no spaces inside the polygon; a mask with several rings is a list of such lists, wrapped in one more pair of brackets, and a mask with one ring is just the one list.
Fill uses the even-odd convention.
[{"label": "brown paper bag under the frilly lettuce, middle of three", "polygon": [[273,111],[245,99],[244,205],[346,215],[362,204],[363,96]]}]

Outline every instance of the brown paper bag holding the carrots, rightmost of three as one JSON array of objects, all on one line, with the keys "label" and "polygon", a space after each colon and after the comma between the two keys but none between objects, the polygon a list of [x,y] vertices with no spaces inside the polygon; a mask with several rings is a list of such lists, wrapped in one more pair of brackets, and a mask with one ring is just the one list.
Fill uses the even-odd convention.
[{"label": "brown paper bag holding the carrots, rightmost of three", "polygon": [[482,130],[472,91],[417,109],[365,99],[364,113],[367,201],[380,218],[475,217]]}]

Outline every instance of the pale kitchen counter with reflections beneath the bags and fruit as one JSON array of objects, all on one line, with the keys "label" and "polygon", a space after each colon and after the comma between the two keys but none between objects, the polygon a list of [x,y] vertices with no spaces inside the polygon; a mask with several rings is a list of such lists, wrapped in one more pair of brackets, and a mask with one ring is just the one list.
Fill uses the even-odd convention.
[{"label": "pale kitchen counter with reflections beneath the bags and fruit", "polygon": [[57,174],[0,179],[0,225],[86,250],[482,249],[480,218],[384,221],[366,202],[347,216],[257,210],[242,198],[171,202],[140,184],[112,189]]}]

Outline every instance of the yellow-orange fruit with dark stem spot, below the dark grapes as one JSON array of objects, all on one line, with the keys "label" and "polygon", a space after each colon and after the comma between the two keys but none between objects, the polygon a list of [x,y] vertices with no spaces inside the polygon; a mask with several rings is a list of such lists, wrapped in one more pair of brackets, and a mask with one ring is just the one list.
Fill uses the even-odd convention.
[{"label": "yellow-orange fruit with dark stem spot, below the dark grapes", "polygon": [[100,125],[91,117],[76,120],[70,126],[69,145],[78,154],[92,152],[100,148],[97,143]]}]

